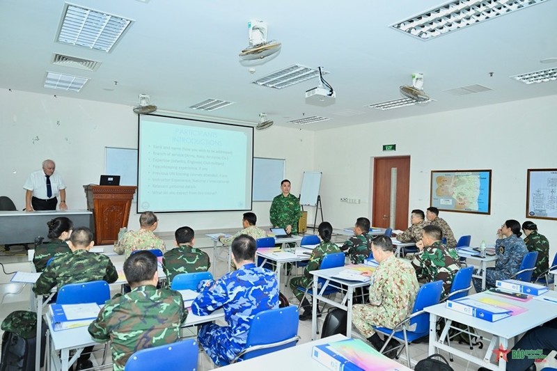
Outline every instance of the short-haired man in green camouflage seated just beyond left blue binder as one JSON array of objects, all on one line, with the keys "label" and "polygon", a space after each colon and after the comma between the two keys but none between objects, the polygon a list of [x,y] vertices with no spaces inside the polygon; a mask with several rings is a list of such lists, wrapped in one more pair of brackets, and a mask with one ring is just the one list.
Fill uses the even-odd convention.
[{"label": "short-haired man in green camouflage seated just beyond left blue binder", "polygon": [[[71,253],[59,255],[48,267],[42,271],[33,292],[38,295],[49,294],[54,287],[62,287],[68,283],[82,283],[90,281],[107,281],[113,283],[118,279],[116,268],[107,257],[100,253],[91,253],[93,247],[93,233],[89,228],[79,227],[70,235]],[[86,347],[77,360],[77,370],[93,367],[89,356],[93,347]]]}]

